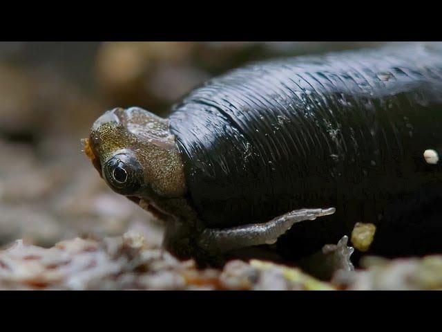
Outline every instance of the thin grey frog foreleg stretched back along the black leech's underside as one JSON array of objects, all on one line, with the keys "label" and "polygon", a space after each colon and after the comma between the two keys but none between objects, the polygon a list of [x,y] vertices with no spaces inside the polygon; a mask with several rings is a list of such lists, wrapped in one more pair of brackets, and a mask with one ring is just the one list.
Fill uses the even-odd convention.
[{"label": "thin grey frog foreleg stretched back along the black leech's underside", "polygon": [[334,208],[294,210],[267,223],[251,223],[234,228],[208,228],[202,232],[199,244],[211,252],[227,252],[249,246],[275,243],[294,223],[314,220],[318,216],[334,214]]}]

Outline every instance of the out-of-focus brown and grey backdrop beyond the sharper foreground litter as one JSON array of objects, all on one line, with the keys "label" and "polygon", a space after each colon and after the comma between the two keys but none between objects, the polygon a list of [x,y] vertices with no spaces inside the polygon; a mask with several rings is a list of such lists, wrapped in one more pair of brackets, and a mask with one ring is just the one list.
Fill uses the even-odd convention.
[{"label": "out-of-focus brown and grey backdrop beyond the sharper foreground litter", "polygon": [[160,244],[160,223],[106,187],[82,152],[98,116],[130,106],[166,116],[184,93],[244,63],[380,44],[1,42],[0,246],[131,229]]}]

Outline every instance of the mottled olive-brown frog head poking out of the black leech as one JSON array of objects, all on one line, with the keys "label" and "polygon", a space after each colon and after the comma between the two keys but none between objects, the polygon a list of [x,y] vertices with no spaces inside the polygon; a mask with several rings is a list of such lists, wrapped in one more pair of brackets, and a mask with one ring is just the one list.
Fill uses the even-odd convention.
[{"label": "mottled olive-brown frog head poking out of the black leech", "polygon": [[137,107],[113,109],[90,131],[86,153],[106,183],[131,199],[156,201],[186,193],[168,120]]}]

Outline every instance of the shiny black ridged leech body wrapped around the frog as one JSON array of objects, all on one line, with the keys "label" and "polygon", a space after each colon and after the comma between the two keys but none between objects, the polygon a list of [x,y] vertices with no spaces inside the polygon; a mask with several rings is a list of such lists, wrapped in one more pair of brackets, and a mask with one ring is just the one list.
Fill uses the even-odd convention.
[{"label": "shiny black ridged leech body wrapped around the frog", "polygon": [[442,167],[424,158],[441,150],[441,127],[440,44],[252,64],[191,91],[169,117],[207,227],[336,207],[281,237],[287,256],[336,243],[356,222],[377,225],[373,250],[385,255],[441,250]]}]

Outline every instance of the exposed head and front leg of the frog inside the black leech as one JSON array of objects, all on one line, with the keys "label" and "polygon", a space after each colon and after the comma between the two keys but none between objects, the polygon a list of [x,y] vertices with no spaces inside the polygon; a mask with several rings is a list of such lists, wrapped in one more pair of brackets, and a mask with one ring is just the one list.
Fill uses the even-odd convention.
[{"label": "exposed head and front leg of the frog inside the black leech", "polygon": [[113,109],[95,121],[85,151],[109,187],[166,222],[164,246],[178,257],[222,264],[224,252],[274,243],[294,223],[334,213],[301,209],[267,223],[207,228],[189,199],[167,124],[143,109]]}]

